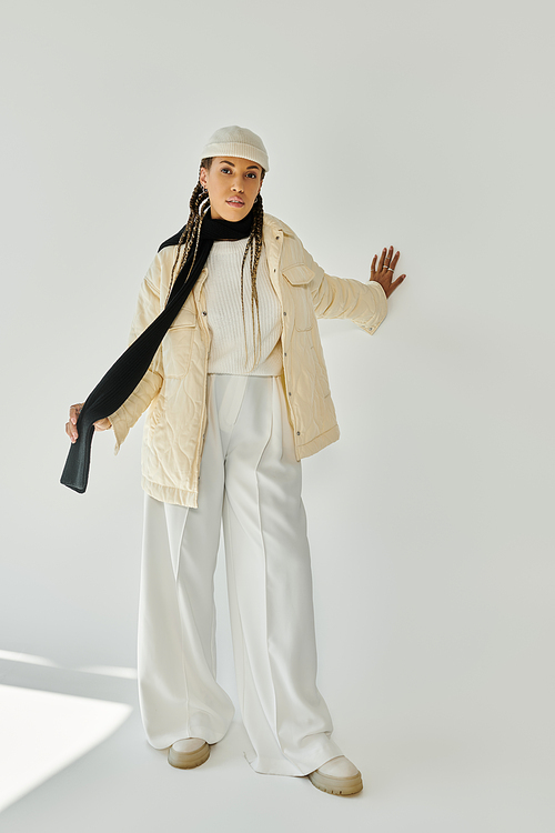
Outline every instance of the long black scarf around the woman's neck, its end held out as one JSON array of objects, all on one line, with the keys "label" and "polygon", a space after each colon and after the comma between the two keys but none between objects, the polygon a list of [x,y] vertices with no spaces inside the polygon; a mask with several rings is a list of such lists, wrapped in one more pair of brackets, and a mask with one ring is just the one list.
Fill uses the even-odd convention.
[{"label": "long black scarf around the woman's neck, its end held out", "polygon": [[[170,298],[163,311],[144,330],[141,335],[120,355],[110,370],[102,377],[94,390],[89,393],[77,421],[78,439],[72,443],[60,482],[84,492],[89,480],[91,443],[94,435],[94,422],[114,413],[134,391],[157,352],[169,328],[179,314],[188,295],[193,289],[210,254],[214,240],[241,240],[251,233],[253,210],[238,222],[213,220],[210,210],[201,223],[200,240],[194,257],[194,242],[191,252],[175,279]],[[183,227],[184,228],[184,227]],[[167,240],[160,247],[175,245],[183,232]],[[193,262],[194,258],[194,262]]]}]

